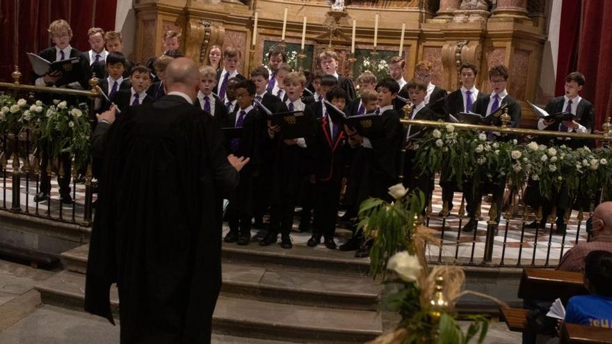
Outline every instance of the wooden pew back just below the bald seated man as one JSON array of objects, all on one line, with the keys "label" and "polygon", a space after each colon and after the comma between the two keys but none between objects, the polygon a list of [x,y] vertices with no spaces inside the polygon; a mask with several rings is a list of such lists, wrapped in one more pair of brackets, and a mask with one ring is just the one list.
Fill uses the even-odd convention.
[{"label": "wooden pew back just below the bald seated man", "polygon": [[524,268],[518,297],[529,300],[554,301],[560,298],[563,304],[574,295],[586,295],[580,272],[551,269]]}]

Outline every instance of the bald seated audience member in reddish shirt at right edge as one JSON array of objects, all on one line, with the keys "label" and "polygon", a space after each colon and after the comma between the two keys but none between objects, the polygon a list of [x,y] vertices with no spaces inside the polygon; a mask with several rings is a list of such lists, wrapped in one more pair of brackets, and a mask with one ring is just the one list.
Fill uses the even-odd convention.
[{"label": "bald seated audience member in reddish shirt at right edge", "polygon": [[593,237],[569,249],[556,270],[579,272],[584,267],[585,257],[593,251],[612,252],[612,202],[599,204],[593,212]]}]

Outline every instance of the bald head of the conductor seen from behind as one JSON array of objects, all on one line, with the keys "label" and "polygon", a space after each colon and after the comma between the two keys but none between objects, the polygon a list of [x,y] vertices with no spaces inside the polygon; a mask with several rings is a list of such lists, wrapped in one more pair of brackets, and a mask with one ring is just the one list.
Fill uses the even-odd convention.
[{"label": "bald head of the conductor seen from behind", "polygon": [[175,58],[166,68],[168,92],[183,92],[192,100],[198,92],[199,78],[198,65],[188,58]]}]

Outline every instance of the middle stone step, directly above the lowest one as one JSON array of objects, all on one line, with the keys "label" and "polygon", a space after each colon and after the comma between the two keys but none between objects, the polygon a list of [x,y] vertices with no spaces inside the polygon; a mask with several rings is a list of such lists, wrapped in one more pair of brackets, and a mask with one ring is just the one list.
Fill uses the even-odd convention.
[{"label": "middle stone step, directly above the lowest one", "polygon": [[[88,245],[62,254],[65,267],[84,274]],[[223,261],[221,293],[230,297],[341,309],[378,309],[380,284],[367,276],[335,275],[258,263]]]}]

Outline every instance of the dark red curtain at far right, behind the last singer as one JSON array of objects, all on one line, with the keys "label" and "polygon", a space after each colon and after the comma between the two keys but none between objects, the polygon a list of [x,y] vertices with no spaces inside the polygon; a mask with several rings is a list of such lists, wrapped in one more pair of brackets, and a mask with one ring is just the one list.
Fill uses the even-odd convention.
[{"label": "dark red curtain at far right, behind the last singer", "polygon": [[595,106],[595,128],[612,115],[612,1],[564,0],[556,76],[563,95],[565,75],[578,70],[586,77],[581,96]]}]

